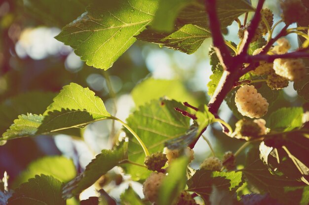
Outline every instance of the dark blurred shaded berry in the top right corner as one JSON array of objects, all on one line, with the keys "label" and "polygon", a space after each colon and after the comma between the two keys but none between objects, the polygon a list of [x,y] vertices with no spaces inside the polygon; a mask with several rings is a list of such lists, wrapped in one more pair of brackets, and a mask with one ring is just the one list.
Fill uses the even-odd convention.
[{"label": "dark blurred shaded berry in the top right corner", "polygon": [[307,8],[302,0],[281,0],[281,17],[286,25],[299,22],[306,18]]}]

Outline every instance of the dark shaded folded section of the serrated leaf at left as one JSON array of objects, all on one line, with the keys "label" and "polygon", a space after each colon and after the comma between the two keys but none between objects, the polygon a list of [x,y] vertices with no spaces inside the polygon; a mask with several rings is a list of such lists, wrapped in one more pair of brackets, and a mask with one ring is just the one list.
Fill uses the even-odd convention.
[{"label": "dark shaded folded section of the serrated leaf at left", "polygon": [[45,115],[36,134],[55,132],[71,127],[83,127],[94,121],[95,119],[85,110],[50,111]]}]

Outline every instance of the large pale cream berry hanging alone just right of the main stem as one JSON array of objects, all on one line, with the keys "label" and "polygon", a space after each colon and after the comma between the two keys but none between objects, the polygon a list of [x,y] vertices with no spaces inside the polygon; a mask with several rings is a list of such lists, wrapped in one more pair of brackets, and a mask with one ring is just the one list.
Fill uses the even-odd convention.
[{"label": "large pale cream berry hanging alone just right of the main stem", "polygon": [[258,93],[254,86],[242,86],[235,95],[235,104],[238,112],[250,118],[263,117],[267,111],[269,103]]}]

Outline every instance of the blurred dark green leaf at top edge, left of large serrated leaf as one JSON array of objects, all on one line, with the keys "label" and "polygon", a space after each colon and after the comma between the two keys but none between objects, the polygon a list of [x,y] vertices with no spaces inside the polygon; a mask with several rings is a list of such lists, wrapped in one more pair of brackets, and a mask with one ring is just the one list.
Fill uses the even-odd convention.
[{"label": "blurred dark green leaf at top edge, left of large serrated leaf", "polygon": [[64,27],[85,11],[82,0],[25,0],[26,11],[51,26]]}]

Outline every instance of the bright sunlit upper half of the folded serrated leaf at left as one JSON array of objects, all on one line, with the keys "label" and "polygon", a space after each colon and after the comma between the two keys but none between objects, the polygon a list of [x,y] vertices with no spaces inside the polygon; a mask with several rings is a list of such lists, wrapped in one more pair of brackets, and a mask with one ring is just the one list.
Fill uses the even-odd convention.
[{"label": "bright sunlit upper half of the folded serrated leaf at left", "polygon": [[89,88],[82,88],[76,83],[64,86],[43,115],[47,116],[50,111],[62,111],[63,109],[86,110],[94,119],[111,116],[101,98],[95,96]]}]

